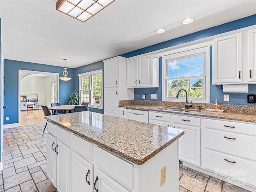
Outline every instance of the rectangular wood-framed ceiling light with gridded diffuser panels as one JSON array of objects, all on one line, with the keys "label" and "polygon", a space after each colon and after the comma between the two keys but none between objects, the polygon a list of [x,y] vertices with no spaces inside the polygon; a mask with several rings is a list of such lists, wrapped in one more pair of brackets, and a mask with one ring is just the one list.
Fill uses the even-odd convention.
[{"label": "rectangular wood-framed ceiling light with gridded diffuser panels", "polygon": [[115,0],[58,0],[56,10],[85,22],[114,1]]}]

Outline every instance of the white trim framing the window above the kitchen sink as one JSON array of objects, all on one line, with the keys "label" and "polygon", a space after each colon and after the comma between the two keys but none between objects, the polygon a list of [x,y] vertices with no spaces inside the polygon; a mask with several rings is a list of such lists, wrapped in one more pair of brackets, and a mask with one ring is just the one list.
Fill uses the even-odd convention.
[{"label": "white trim framing the window above the kitchen sink", "polygon": [[171,55],[167,55],[162,57],[162,101],[171,101],[171,102],[185,102],[186,98],[179,97],[176,98],[167,98],[166,97],[166,60],[170,60],[172,58],[182,57],[182,56],[189,56],[191,54],[199,54],[204,53],[205,57],[205,64],[204,64],[204,79],[205,83],[203,86],[203,90],[205,91],[205,98],[199,99],[199,98],[188,98],[188,102],[192,100],[192,102],[196,103],[210,103],[210,47],[203,47],[203,48],[197,48],[193,50],[187,50],[184,52],[178,52]]}]

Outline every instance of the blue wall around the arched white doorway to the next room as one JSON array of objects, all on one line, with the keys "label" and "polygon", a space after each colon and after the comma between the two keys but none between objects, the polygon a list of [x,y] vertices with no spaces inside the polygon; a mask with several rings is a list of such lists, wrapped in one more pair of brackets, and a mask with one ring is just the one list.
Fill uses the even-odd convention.
[{"label": "blue wall around the arched white doorway to the next room", "polygon": [[[32,70],[42,72],[59,73],[63,76],[63,67],[50,66],[44,64],[36,64],[29,62],[21,62],[14,60],[4,60],[4,77],[5,77],[5,96],[4,96],[4,124],[18,123],[18,70]],[[69,81],[60,80],[60,102],[65,103],[66,98],[75,90],[74,88],[74,69],[68,68],[68,77],[72,79]],[[29,85],[28,85],[29,86]],[[9,121],[6,121],[9,117]]]}]

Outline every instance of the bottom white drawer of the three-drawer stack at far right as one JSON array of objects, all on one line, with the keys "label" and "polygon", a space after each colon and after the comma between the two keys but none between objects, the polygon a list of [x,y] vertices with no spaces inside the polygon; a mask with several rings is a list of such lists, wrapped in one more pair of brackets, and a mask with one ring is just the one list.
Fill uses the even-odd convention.
[{"label": "bottom white drawer of the three-drawer stack at far right", "polygon": [[256,185],[256,162],[210,150],[204,150],[203,160],[204,168],[207,170],[235,178],[240,182]]}]

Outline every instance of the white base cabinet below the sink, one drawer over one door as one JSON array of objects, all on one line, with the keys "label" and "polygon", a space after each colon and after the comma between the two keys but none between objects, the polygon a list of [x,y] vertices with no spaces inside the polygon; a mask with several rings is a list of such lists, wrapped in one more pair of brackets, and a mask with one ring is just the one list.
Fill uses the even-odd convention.
[{"label": "white base cabinet below the sink, one drawer over one door", "polygon": [[179,138],[180,160],[201,166],[201,119],[182,115],[171,118],[174,128],[185,131]]}]

